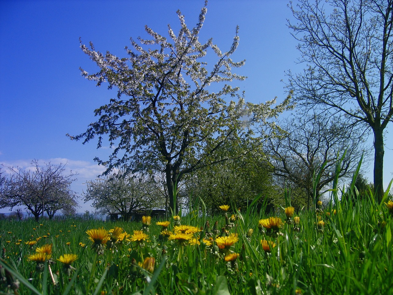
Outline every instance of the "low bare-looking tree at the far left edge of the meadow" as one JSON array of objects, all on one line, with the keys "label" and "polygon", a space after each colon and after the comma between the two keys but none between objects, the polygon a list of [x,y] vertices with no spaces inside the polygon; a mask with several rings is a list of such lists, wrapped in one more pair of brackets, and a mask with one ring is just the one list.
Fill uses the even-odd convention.
[{"label": "low bare-looking tree at the far left edge of the meadow", "polygon": [[70,188],[76,173],[64,175],[65,164],[40,166],[33,160],[31,166],[28,171],[8,167],[12,174],[5,181],[0,208],[25,206],[38,221],[47,210],[53,217],[63,206],[76,205],[77,196]]}]

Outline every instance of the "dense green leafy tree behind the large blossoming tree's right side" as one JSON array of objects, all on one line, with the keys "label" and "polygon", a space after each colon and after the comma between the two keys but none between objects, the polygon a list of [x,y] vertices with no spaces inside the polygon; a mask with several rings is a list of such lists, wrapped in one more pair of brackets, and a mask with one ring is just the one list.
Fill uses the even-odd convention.
[{"label": "dense green leafy tree behind the large blossoming tree's right side", "polygon": [[[226,146],[221,152],[230,153],[228,149],[233,148],[235,147]],[[259,149],[241,159],[228,160],[196,171],[185,182],[186,191],[192,202],[200,197],[209,214],[219,212],[219,206],[224,204],[246,210],[258,194],[262,194],[262,197],[255,206],[261,208],[266,198],[266,211],[269,212],[274,210],[278,198],[269,166],[271,164],[263,155],[262,149]]]}]

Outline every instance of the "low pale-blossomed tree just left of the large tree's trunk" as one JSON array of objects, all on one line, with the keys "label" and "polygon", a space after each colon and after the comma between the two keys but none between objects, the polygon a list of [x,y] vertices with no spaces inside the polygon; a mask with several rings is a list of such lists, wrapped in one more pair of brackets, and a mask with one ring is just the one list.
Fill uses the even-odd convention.
[{"label": "low pale-blossomed tree just left of the large tree's trunk", "polygon": [[150,180],[124,175],[120,172],[86,183],[85,203],[93,202],[102,214],[119,212],[128,220],[135,210],[151,209],[158,205]]}]

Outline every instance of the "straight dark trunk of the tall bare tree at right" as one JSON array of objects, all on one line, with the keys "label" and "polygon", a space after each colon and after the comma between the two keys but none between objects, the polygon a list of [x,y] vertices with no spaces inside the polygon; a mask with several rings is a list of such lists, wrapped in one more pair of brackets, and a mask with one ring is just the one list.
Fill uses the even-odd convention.
[{"label": "straight dark trunk of the tall bare tree at right", "polygon": [[374,197],[380,203],[384,195],[384,136],[381,127],[374,131]]}]

